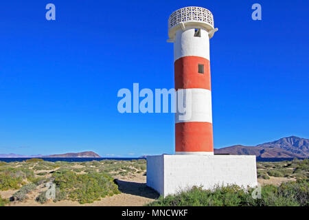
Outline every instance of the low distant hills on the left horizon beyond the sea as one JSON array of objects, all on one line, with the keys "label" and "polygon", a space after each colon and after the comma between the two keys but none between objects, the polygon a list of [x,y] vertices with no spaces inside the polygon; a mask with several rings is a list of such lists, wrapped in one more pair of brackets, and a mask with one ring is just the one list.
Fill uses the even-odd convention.
[{"label": "low distant hills on the left horizon beyond the sea", "polygon": [[80,153],[63,153],[63,154],[54,154],[54,155],[18,155],[14,153],[0,154],[0,157],[101,157],[93,151],[84,151]]}]

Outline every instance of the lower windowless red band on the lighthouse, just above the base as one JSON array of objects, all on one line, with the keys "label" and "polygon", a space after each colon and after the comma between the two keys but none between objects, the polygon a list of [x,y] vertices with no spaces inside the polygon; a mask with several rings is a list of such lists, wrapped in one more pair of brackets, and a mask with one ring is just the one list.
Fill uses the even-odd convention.
[{"label": "lower windowless red band on the lighthouse, just above the base", "polygon": [[209,122],[176,123],[175,151],[214,152],[212,124]]}]

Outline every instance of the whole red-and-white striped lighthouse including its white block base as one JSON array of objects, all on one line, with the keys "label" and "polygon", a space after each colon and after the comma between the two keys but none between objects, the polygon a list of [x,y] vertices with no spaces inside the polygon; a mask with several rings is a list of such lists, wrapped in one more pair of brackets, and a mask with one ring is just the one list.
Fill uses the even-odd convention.
[{"label": "whole red-and-white striped lighthouse including its white block base", "polygon": [[148,155],[146,175],[147,186],[163,197],[192,186],[258,185],[255,155],[214,155],[209,39],[217,30],[206,8],[181,8],[168,19],[168,42],[174,44],[175,154]]}]

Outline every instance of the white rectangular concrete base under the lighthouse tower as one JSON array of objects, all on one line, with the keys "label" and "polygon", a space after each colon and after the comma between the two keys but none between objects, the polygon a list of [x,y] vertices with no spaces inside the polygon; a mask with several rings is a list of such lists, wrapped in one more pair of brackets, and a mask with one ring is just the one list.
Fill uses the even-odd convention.
[{"label": "white rectangular concrete base under the lighthouse tower", "polygon": [[147,186],[164,197],[192,186],[258,185],[253,155],[147,156]]}]

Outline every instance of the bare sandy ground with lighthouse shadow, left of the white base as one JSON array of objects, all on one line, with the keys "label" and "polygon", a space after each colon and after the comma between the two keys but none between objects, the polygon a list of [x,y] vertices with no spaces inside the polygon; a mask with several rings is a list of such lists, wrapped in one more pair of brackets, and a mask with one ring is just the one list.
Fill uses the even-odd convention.
[{"label": "bare sandy ground with lighthouse shadow, left of the white base", "polygon": [[[13,201],[8,206],[144,206],[151,201],[154,201],[159,197],[155,190],[152,190],[146,186],[146,176],[142,173],[137,173],[135,176],[116,177],[117,184],[119,186],[121,194],[113,195],[112,197],[105,197],[100,201],[94,201],[93,203],[80,204],[78,201],[48,201],[45,204],[41,204],[35,201],[35,198],[40,192],[47,190],[38,186],[38,189],[34,192],[27,194],[29,199],[25,201]],[[3,198],[10,198],[17,190],[1,191],[0,195]]]}]

